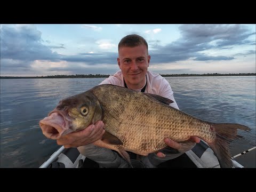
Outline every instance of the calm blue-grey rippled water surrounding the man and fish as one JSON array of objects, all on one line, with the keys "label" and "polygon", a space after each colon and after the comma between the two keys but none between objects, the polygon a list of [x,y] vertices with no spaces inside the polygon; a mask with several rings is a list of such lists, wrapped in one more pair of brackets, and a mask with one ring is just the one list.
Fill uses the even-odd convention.
[{"label": "calm blue-grey rippled water surrounding the man and fish", "polygon": [[[59,100],[105,78],[1,79],[1,167],[39,167],[60,146],[46,139],[38,122]],[[180,110],[214,123],[239,123],[251,132],[231,143],[234,156],[255,146],[255,76],[166,77]],[[255,150],[236,161],[256,167]]]}]

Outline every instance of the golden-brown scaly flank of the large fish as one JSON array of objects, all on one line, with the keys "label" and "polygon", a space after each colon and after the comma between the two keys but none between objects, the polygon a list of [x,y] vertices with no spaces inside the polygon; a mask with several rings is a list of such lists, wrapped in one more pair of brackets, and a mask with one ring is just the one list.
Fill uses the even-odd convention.
[{"label": "golden-brown scaly flank of the large fish", "polygon": [[[194,126],[202,124],[198,121],[196,124],[193,123],[194,126],[189,125],[191,118],[186,117],[186,114],[181,114],[178,118],[171,118],[175,117],[175,112],[177,112],[174,108],[155,101],[141,92],[132,91],[131,94],[127,94],[128,89],[124,90],[121,87],[116,91],[118,88],[113,86],[108,86],[108,89],[107,91],[113,94],[109,94],[107,97],[106,94],[103,97],[97,96],[103,108],[106,109],[103,122],[106,131],[117,138],[122,138],[122,147],[125,150],[135,151],[137,154],[152,153],[166,146],[163,138],[170,137],[177,141],[188,140],[190,135],[193,135],[193,131],[196,130]],[[103,92],[106,92],[106,89],[101,89],[101,87],[93,90],[95,95],[103,95]],[[125,108],[117,107],[120,98],[122,98],[122,103],[125,103]],[[117,123],[118,121],[113,117],[123,119],[122,124]],[[120,134],[122,132],[126,134]],[[148,142],[150,144],[147,147],[144,146],[143,149],[139,147],[142,145],[141,135],[145,140],[151,139],[151,142]],[[134,139],[131,140],[131,137]]]}]

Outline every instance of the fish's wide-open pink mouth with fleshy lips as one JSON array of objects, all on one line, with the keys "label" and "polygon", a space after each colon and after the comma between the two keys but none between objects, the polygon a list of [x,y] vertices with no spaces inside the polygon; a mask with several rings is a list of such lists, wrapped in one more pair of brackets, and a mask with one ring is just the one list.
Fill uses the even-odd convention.
[{"label": "fish's wide-open pink mouth with fleshy lips", "polygon": [[46,138],[59,139],[71,130],[71,119],[65,111],[53,110],[47,117],[39,121],[39,126]]}]

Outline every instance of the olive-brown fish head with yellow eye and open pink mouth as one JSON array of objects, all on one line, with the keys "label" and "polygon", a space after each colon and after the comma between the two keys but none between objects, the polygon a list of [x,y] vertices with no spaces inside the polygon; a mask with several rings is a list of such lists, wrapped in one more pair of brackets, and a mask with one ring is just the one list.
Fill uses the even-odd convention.
[{"label": "olive-brown fish head with yellow eye and open pink mouth", "polygon": [[103,118],[97,97],[89,91],[63,99],[47,117],[39,121],[45,137],[59,139],[63,135],[85,129]]}]

